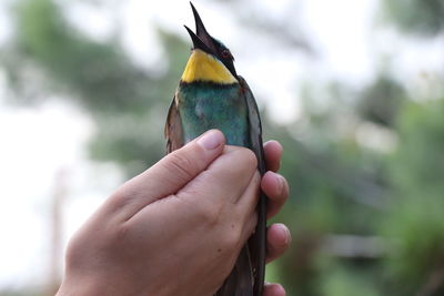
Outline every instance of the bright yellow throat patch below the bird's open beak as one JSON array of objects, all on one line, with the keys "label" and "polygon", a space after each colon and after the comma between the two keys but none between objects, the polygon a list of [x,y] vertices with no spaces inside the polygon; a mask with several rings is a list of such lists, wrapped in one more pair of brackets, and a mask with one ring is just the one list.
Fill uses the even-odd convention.
[{"label": "bright yellow throat patch below the bird's open beak", "polygon": [[221,84],[238,82],[221,61],[199,49],[193,50],[191,53],[181,80],[188,83],[194,81],[208,81]]}]

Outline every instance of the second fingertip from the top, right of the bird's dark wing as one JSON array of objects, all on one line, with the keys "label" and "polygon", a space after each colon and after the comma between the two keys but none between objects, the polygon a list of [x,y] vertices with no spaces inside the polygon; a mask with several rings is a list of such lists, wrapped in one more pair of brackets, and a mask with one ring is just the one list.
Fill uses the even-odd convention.
[{"label": "second fingertip from the top, right of the bird's dark wing", "polygon": [[266,217],[273,217],[289,198],[289,183],[282,175],[269,171],[262,177],[261,188],[269,196]]}]

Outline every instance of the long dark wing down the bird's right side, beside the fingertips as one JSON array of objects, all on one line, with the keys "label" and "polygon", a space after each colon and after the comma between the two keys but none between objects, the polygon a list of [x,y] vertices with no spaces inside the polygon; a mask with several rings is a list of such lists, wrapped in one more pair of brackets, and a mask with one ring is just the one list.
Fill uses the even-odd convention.
[{"label": "long dark wing down the bird's right side, beside the fingertips", "polygon": [[[251,149],[258,157],[258,169],[261,175],[265,174],[265,156],[262,143],[261,116],[254,95],[246,81],[239,76],[245,103],[249,110]],[[258,203],[258,226],[249,239],[250,254],[254,274],[254,295],[262,295],[265,275],[265,233],[266,233],[266,195],[261,192]]]}]

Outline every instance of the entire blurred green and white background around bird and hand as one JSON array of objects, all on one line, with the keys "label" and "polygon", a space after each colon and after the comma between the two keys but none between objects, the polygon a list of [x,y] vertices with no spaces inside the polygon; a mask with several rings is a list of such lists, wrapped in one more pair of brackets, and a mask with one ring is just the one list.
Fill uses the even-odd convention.
[{"label": "entire blurred green and white background around bird and hand", "polygon": [[[194,0],[284,146],[287,295],[444,295],[443,0]],[[188,1],[0,0],[0,295],[164,155]]]}]

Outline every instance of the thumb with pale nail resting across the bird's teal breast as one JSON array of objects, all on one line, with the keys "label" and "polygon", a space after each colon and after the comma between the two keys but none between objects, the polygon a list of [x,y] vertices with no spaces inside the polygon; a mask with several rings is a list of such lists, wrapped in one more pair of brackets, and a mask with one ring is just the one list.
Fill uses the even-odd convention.
[{"label": "thumb with pale nail resting across the bird's teal breast", "polygon": [[210,130],[128,181],[117,192],[125,200],[122,202],[127,215],[132,216],[152,202],[176,193],[221,155],[224,143],[222,132]]}]

